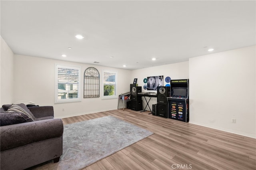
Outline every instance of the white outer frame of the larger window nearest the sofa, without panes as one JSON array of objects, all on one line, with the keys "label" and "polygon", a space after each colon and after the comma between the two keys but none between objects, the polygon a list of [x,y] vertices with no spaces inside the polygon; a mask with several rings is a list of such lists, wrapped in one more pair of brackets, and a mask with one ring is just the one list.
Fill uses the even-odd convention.
[{"label": "white outer frame of the larger window nearest the sofa, without panes", "polygon": [[[77,69],[78,70],[78,91],[77,91],[78,93],[77,93],[77,98],[58,99],[58,68]],[[72,103],[72,102],[80,102],[81,101],[81,67],[80,66],[55,64],[54,82],[55,82],[54,104]]]}]

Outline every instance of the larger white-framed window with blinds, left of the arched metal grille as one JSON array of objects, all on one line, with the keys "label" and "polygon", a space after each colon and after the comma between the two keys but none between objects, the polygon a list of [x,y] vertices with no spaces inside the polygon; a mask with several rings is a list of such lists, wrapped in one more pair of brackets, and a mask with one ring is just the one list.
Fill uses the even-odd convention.
[{"label": "larger white-framed window with blinds, left of the arched metal grille", "polygon": [[81,101],[80,67],[56,65],[55,71],[55,103]]}]

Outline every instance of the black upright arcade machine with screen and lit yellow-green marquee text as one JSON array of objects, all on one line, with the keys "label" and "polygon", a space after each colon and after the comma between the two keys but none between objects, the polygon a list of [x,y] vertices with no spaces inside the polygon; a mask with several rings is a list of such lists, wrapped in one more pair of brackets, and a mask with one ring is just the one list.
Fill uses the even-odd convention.
[{"label": "black upright arcade machine with screen and lit yellow-green marquee text", "polygon": [[168,100],[168,118],[189,121],[188,79],[171,80],[171,94]]}]

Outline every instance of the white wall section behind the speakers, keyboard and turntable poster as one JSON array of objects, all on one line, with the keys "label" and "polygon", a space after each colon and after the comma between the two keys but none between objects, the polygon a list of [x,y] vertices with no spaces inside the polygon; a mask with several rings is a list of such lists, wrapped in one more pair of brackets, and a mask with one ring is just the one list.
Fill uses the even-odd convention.
[{"label": "white wall section behind the speakers, keyboard and turntable poster", "polygon": [[[135,78],[138,78],[137,84],[138,86],[142,87],[142,92],[157,92],[157,91],[148,91],[144,90],[143,86],[146,84],[144,83],[144,79],[150,76],[158,76],[163,75],[164,79],[166,77],[170,77],[172,80],[174,79],[188,79],[188,61],[168,64],[168,65],[160,65],[156,67],[149,67],[144,69],[137,69],[132,71],[132,77],[130,80],[130,84],[132,84]],[[164,81],[164,86],[167,83]],[[168,83],[170,84],[170,83]],[[146,97],[148,98],[148,97]],[[148,99],[147,99],[148,100]],[[152,110],[152,104],[157,103],[157,98],[152,97],[149,102],[150,109]],[[144,97],[142,97],[142,109],[146,107],[146,101]],[[148,107],[146,108],[149,111]]]}]

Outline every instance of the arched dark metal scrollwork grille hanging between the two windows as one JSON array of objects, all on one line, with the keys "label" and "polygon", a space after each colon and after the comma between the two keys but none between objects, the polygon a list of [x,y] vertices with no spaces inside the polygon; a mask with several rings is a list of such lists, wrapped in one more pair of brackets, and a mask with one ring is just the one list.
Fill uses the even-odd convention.
[{"label": "arched dark metal scrollwork grille hanging between the two windows", "polygon": [[84,71],[84,98],[100,97],[100,73],[94,67]]}]

